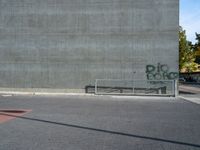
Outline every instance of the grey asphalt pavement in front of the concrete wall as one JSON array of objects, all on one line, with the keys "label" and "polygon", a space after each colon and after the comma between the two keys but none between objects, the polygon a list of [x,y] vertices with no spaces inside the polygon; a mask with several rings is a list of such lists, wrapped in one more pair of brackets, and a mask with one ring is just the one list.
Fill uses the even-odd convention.
[{"label": "grey asphalt pavement in front of the concrete wall", "polygon": [[200,149],[200,105],[181,98],[3,95],[0,109],[29,110],[6,114],[0,150]]}]

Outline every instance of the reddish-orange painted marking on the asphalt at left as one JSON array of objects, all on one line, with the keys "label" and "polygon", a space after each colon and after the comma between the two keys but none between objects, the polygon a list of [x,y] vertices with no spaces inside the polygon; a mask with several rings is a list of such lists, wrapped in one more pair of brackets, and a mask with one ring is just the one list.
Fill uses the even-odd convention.
[{"label": "reddish-orange painted marking on the asphalt at left", "polygon": [[5,123],[31,111],[30,109],[0,109],[0,123]]}]

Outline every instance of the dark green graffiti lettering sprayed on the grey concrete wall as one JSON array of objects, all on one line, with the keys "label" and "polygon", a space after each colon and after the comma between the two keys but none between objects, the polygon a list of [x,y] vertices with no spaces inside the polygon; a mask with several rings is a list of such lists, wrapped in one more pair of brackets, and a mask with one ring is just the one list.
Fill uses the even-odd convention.
[{"label": "dark green graffiti lettering sprayed on the grey concrete wall", "polygon": [[146,75],[148,80],[174,80],[178,78],[177,72],[170,72],[166,64],[147,65]]}]

